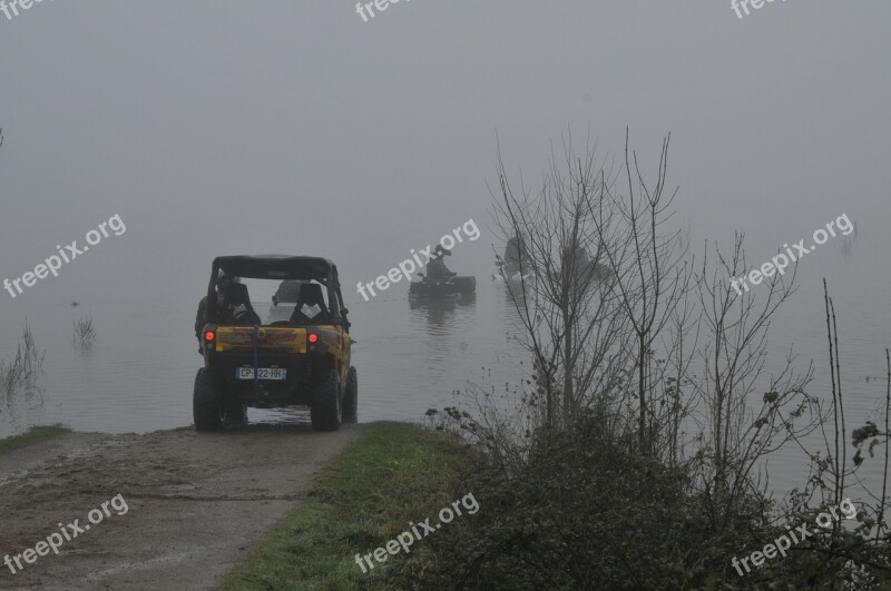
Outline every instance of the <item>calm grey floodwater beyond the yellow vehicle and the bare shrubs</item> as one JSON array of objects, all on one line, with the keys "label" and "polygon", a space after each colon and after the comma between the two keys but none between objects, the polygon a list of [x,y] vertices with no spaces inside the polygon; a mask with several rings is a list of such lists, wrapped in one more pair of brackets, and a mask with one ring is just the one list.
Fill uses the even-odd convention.
[{"label": "calm grey floodwater beyond the yellow vehicle and the bare shrubs", "polygon": [[[849,435],[866,418],[880,416],[877,411],[885,387],[883,349],[891,344],[891,268],[888,257],[877,260],[872,256],[887,238],[881,233],[870,235],[871,224],[861,224],[851,252],[830,244],[802,260],[801,287],[781,308],[771,331],[768,371],[775,371],[793,346],[802,370],[814,359],[812,392],[831,400],[820,283],[822,276],[829,278],[839,316]],[[477,297],[466,303],[415,304],[409,301],[404,284],[363,302],[344,287],[358,342],[353,364],[359,371],[361,422],[421,421],[429,408],[454,403],[454,392],[469,384],[505,392],[521,382],[525,356],[511,339],[517,327],[515,313],[503,285],[491,280],[491,270],[484,270],[488,263],[482,258],[477,263]],[[351,277],[343,269],[341,275]],[[56,290],[36,290],[16,306],[0,308],[3,356],[14,353],[26,316],[38,347],[47,352],[42,402],[19,404],[14,413],[3,410],[0,436],[29,424],[57,422],[77,431],[108,433],[192,424],[192,385],[202,364],[193,335],[200,289],[193,302],[150,287],[151,282],[147,285],[139,288],[138,305],[131,294],[111,297],[87,292],[75,307]],[[344,285],[350,282],[344,279]],[[80,349],[72,345],[72,323],[86,313],[92,314],[98,336],[92,347]],[[258,422],[307,420],[302,410],[249,410],[248,416]],[[816,436],[809,442],[820,444]],[[878,464],[866,466],[873,483]],[[771,485],[780,490],[800,484],[806,475],[806,462],[793,446],[773,456],[771,466]]]}]

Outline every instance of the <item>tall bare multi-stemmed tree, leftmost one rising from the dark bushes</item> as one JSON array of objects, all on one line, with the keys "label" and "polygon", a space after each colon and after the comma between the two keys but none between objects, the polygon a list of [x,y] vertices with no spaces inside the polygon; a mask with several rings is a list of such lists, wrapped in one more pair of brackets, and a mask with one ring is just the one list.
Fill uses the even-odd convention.
[{"label": "tall bare multi-stemmed tree, leftmost one rising from the dark bushes", "polygon": [[607,287],[605,253],[617,248],[610,175],[588,139],[576,152],[571,135],[531,196],[515,193],[498,151],[496,219],[506,238],[516,237],[523,256],[517,282],[501,276],[522,324],[518,341],[533,358],[542,421],[567,421],[608,390],[627,356],[625,317]]}]

